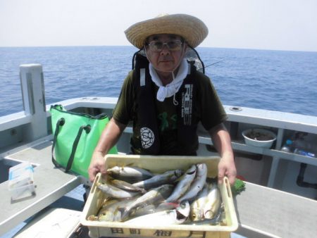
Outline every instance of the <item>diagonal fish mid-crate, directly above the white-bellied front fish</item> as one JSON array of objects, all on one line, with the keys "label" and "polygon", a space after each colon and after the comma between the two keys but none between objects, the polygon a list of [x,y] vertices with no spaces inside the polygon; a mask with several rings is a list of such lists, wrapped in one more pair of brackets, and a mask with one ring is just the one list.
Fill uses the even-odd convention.
[{"label": "diagonal fish mid-crate, directly above the white-bellied front fish", "polygon": [[137,208],[147,206],[149,204],[158,204],[164,201],[173,192],[174,186],[172,184],[163,184],[160,187],[151,189],[146,194],[140,196],[130,206],[126,206],[122,212],[123,220],[128,219],[129,215],[133,215],[133,211]]}]

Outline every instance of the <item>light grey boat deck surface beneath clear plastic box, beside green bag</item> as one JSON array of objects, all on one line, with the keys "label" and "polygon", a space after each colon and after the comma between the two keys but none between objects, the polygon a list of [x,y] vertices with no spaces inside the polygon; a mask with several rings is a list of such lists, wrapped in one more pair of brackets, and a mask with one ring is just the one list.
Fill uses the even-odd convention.
[{"label": "light grey boat deck surface beneath clear plastic box, beside green bag", "polygon": [[1,159],[30,161],[34,168],[35,196],[11,203],[8,181],[0,184],[0,235],[8,232],[30,216],[54,203],[81,184],[80,177],[63,173],[51,162],[51,141],[43,139],[39,144],[23,146],[13,154],[2,154]]}]

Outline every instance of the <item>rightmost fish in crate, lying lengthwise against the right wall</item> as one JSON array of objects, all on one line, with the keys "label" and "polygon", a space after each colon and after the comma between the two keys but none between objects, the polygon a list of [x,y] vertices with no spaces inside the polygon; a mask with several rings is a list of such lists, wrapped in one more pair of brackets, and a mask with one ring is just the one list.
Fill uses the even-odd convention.
[{"label": "rightmost fish in crate, lying lengthwise against the right wall", "polygon": [[216,182],[210,183],[208,190],[207,201],[204,206],[204,218],[212,219],[220,208],[221,196]]}]

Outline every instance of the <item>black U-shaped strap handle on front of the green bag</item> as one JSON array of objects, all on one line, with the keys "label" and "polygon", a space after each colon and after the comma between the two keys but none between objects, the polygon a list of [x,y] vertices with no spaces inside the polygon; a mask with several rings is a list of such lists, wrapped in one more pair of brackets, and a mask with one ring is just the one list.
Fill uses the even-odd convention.
[{"label": "black U-shaped strap handle on front of the green bag", "polygon": [[68,158],[66,168],[63,168],[63,166],[59,165],[57,163],[56,159],[54,158],[54,148],[56,146],[59,128],[60,128],[60,126],[63,126],[64,124],[65,124],[64,118],[59,119],[56,123],[56,130],[54,133],[53,145],[51,146],[51,161],[54,163],[56,168],[61,168],[61,170],[63,170],[65,173],[67,173],[70,170],[70,168],[72,168],[72,164],[73,164],[73,161],[75,158],[75,154],[76,154],[78,143],[80,141],[80,137],[82,135],[82,131],[85,130],[85,132],[88,134],[90,132],[91,126],[90,125],[82,125],[80,127],[80,129],[77,132],[77,136],[75,138],[75,141],[73,142],[72,152],[70,153],[70,157]]}]

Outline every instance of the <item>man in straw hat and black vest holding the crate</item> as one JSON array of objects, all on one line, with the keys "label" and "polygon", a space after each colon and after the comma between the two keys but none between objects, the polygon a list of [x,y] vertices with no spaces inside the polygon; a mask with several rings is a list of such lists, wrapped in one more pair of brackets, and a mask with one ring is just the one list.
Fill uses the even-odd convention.
[{"label": "man in straw hat and black vest holding the crate", "polygon": [[[225,175],[230,184],[235,182],[230,135],[223,125],[227,115],[209,77],[195,67],[200,59],[194,47],[207,34],[201,20],[185,14],[161,15],[125,31],[140,51],[123,83],[113,118],[94,150],[90,180],[99,172],[106,173],[104,156],[132,120],[132,154],[175,156],[197,155],[200,122],[221,157],[218,182]],[[189,52],[196,54],[194,61],[187,61]]]}]

